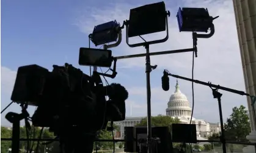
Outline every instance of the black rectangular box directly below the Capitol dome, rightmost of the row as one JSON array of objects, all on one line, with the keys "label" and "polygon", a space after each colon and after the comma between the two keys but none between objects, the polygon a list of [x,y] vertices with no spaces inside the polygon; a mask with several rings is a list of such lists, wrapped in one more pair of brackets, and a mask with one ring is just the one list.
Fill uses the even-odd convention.
[{"label": "black rectangular box directly below the Capitol dome, rightmost of the row", "polygon": [[172,142],[197,143],[196,124],[172,124]]}]

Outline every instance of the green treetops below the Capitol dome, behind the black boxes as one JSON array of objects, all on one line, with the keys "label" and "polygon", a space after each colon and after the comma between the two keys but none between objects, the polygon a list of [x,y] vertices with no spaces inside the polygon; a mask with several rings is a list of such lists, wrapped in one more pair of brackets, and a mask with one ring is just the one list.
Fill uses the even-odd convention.
[{"label": "green treetops below the Capitol dome, behind the black boxes", "polygon": [[[171,116],[152,116],[151,118],[152,126],[168,126],[171,129],[172,124],[180,123],[180,119],[172,118]],[[142,118],[141,123],[137,124],[136,126],[147,126],[147,118]]]}]

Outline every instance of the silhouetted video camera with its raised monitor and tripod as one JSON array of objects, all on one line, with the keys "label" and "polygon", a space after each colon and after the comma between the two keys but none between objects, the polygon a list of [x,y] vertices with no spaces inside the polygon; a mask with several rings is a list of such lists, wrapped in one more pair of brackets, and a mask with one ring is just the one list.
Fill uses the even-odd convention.
[{"label": "silhouetted video camera with its raised monitor and tripod", "polygon": [[[19,67],[11,99],[21,105],[22,113],[5,116],[13,124],[13,152],[19,149],[21,119],[26,126],[31,119],[34,126],[49,127],[59,137],[61,152],[92,152],[97,131],[106,129],[108,121],[112,126],[125,119],[128,91],[120,84],[103,86],[100,76],[114,78],[117,74],[117,59],[110,50],[80,48],[79,65],[110,67],[113,61],[112,74],[93,71],[92,76],[68,63],[53,65],[53,71],[38,65]],[[31,118],[28,105],[37,106]]]}]

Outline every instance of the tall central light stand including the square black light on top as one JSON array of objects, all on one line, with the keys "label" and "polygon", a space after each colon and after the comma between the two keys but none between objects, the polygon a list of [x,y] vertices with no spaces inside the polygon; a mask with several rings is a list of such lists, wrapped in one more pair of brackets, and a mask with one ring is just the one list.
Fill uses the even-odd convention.
[{"label": "tall central light stand including the square black light on top", "polygon": [[[155,8],[154,8],[155,7]],[[154,9],[159,9],[158,13],[155,13]],[[148,16],[149,14],[155,13],[153,18],[161,18],[161,25],[156,25]],[[164,14],[165,13],[165,14]],[[148,15],[148,16],[147,16]],[[152,153],[152,124],[151,124],[151,91],[150,91],[150,72],[152,69],[155,69],[157,65],[152,66],[150,64],[150,52],[149,52],[149,45],[156,44],[156,43],[164,43],[169,38],[169,31],[168,31],[168,19],[167,17],[170,16],[170,12],[165,9],[164,2],[158,2],[155,4],[144,5],[142,7],[138,7],[136,9],[131,9],[130,11],[130,20],[125,21],[126,26],[126,43],[131,48],[144,46],[146,49],[145,54],[145,73],[146,73],[146,84],[147,84],[147,152]],[[144,22],[139,21],[140,18],[144,18]],[[146,18],[146,20],[145,20]],[[164,21],[163,21],[164,19]],[[153,23],[153,26],[152,26]],[[148,24],[148,25],[147,25]],[[144,25],[145,27],[142,27]],[[137,44],[129,44],[129,37],[139,36],[143,34],[152,34],[154,32],[163,31],[163,25],[166,26],[166,37],[161,40],[153,40],[153,41],[145,41],[144,43],[137,43]],[[131,27],[130,27],[131,26]],[[147,29],[147,26],[151,26],[151,29]],[[133,31],[130,32],[129,30]],[[143,29],[144,28],[144,29]],[[145,30],[146,29],[146,30]],[[142,37],[141,37],[142,38]]]}]

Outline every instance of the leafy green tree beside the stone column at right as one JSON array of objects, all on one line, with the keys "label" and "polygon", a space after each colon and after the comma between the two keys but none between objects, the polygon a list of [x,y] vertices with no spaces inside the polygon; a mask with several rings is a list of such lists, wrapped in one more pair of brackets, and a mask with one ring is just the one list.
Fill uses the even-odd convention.
[{"label": "leafy green tree beside the stone column at right", "polygon": [[248,111],[246,107],[234,107],[230,118],[224,125],[226,140],[247,141],[246,135],[251,132]]}]

